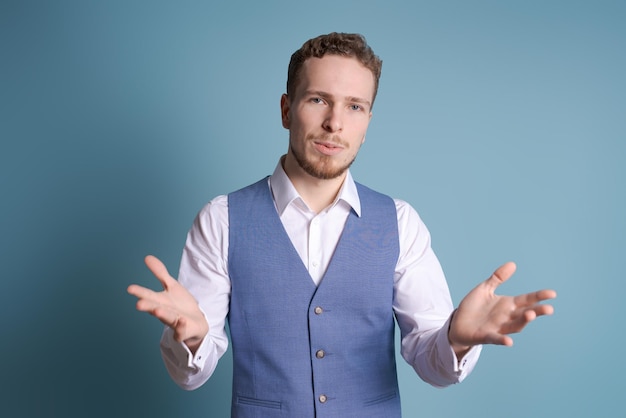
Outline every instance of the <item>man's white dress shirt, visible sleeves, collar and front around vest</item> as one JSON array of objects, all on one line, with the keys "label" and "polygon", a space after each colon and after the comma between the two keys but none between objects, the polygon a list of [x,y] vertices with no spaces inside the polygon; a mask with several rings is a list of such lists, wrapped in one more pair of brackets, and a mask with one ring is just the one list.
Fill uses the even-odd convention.
[{"label": "man's white dress shirt, visible sleeves, collar and front around vest", "polygon": [[[268,187],[276,210],[302,262],[319,284],[351,210],[360,216],[361,203],[350,172],[335,201],[319,213],[311,211],[279,162]],[[448,341],[453,306],[443,271],[430,246],[430,234],[417,212],[395,200],[400,255],[394,275],[393,309],[401,331],[402,357],[426,382],[448,386],[474,368],[481,347],[460,361]],[[209,334],[193,355],[165,327],[161,352],[172,379],[185,389],[201,386],[228,347],[225,324],[230,302],[228,276],[228,197],[209,202],[194,220],[180,264],[179,282],[197,299]]]}]

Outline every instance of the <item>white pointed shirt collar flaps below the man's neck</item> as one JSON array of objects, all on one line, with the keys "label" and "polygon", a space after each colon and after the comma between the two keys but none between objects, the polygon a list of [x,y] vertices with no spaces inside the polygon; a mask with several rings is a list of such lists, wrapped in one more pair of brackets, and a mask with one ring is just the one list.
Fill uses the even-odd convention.
[{"label": "white pointed shirt collar flaps below the man's neck", "polygon": [[[291,180],[289,180],[287,173],[285,173],[285,170],[283,169],[283,158],[284,156],[278,161],[278,164],[274,169],[274,173],[270,177],[270,189],[272,190],[272,196],[274,197],[274,203],[279,216],[282,216],[287,206],[295,200],[299,199],[302,201],[298,191],[293,186],[293,183],[291,183]],[[341,186],[341,190],[339,190],[337,198],[333,204],[330,205],[330,207],[335,206],[339,201],[343,201],[348,204],[357,216],[361,216],[361,200],[359,199],[359,193],[357,191],[356,184],[354,183],[354,179],[352,178],[352,174],[350,174],[350,170],[347,171],[346,179]],[[302,203],[304,203],[304,201],[302,201]]]}]

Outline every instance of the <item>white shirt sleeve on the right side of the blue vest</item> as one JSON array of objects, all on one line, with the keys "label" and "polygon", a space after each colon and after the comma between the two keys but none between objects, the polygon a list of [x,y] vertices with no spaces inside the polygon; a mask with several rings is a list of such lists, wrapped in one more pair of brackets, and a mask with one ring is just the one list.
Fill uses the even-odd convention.
[{"label": "white shirt sleeve on the right side of the blue vest", "polygon": [[408,203],[396,200],[400,256],[395,272],[394,311],[402,357],[425,382],[459,383],[473,370],[481,346],[457,359],[448,340],[453,312],[448,285],[430,245],[430,233]]}]

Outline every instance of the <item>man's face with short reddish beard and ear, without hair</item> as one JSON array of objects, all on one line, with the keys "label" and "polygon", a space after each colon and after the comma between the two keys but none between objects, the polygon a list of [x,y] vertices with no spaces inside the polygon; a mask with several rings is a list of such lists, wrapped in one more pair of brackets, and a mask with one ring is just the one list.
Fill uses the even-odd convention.
[{"label": "man's face with short reddish beard and ear, without hair", "polygon": [[285,165],[318,179],[344,175],[365,141],[373,97],[374,75],[356,59],[309,58],[295,92],[281,100]]}]

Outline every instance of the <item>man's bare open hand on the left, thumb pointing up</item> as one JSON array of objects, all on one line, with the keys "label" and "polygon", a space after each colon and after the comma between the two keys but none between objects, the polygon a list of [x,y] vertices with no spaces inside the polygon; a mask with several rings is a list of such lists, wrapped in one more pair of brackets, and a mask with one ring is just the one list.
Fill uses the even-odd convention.
[{"label": "man's bare open hand on the left, thumb pointing up", "polygon": [[128,293],[136,296],[137,310],[147,312],[174,330],[174,339],[184,342],[195,353],[209,333],[209,324],[196,299],[167,272],[165,265],[154,256],[147,256],[146,266],[159,279],[163,291],[155,292],[132,284]]}]

